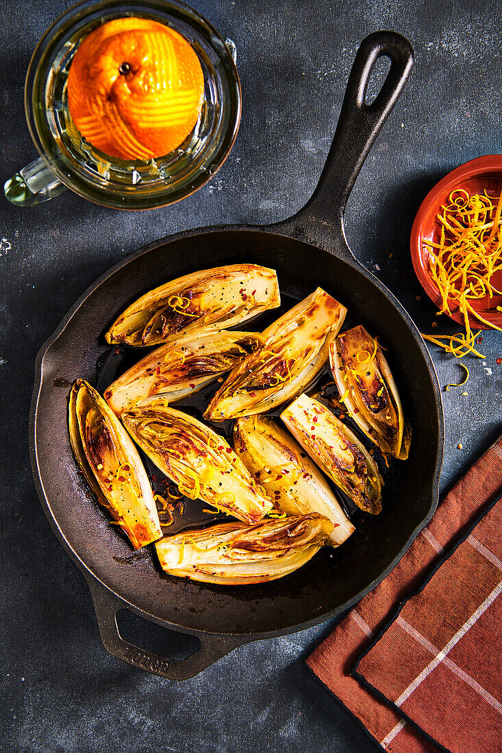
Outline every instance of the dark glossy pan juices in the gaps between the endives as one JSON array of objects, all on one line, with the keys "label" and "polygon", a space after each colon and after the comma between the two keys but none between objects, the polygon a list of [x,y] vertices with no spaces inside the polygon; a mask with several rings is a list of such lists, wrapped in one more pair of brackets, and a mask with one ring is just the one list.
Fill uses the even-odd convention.
[{"label": "dark glossy pan juices in the gaps between the endives", "polygon": [[[246,331],[264,331],[265,328],[268,327],[268,325],[271,325],[272,322],[275,322],[276,319],[279,319],[279,317],[282,316],[283,313],[291,309],[292,306],[295,305],[295,303],[298,303],[298,300],[301,300],[299,297],[289,295],[287,293],[284,293],[283,291],[280,291],[280,296],[280,307],[273,309],[270,312],[261,314],[256,319],[254,319],[253,322],[246,322]],[[341,301],[341,303],[343,303],[343,301]],[[350,317],[347,316],[341,329],[342,331],[344,329],[350,329],[352,326],[357,324],[359,324],[359,322],[353,323],[350,321]],[[238,327],[234,329],[238,329]],[[109,349],[109,351],[104,352],[96,363],[96,389],[98,389],[98,391],[103,395],[103,392],[105,392],[105,390],[112,384],[112,382],[118,379],[118,377],[121,377],[124,371],[127,371],[127,369],[133,366],[133,364],[136,364],[137,361],[139,361],[141,358],[144,358],[145,354],[149,350],[153,350],[156,347],[158,346],[154,346],[153,348],[133,348],[127,345],[120,345],[112,347]],[[210,399],[213,397],[214,392],[218,388],[219,384],[222,383],[225,377],[226,375],[224,377],[219,377],[220,382],[217,382],[215,380],[213,383],[210,383],[209,385],[201,389],[200,392],[197,392],[195,395],[193,395],[193,397],[184,398],[178,402],[173,402],[172,405],[177,410],[183,410],[185,413],[189,413],[199,421],[207,423],[211,426],[211,428],[213,428],[214,431],[216,431],[218,434],[221,434],[222,437],[225,437],[228,443],[231,444],[231,431],[234,425],[233,420],[216,423],[212,421],[206,421],[206,419],[203,418],[204,411],[206,410]],[[338,398],[338,389],[333,382],[332,373],[329,370],[329,363],[326,364],[326,367],[324,367],[324,369],[316,377],[314,382],[311,383],[306,392],[308,392],[308,395],[311,395],[312,397],[315,397],[316,399],[323,402],[327,407],[329,407],[330,410],[332,410],[333,413],[335,413],[336,416],[340,417],[341,413],[346,414],[346,411],[342,410],[341,407],[337,404],[336,398]],[[274,408],[274,410],[267,411],[263,415],[273,416],[279,421],[280,419],[278,419],[278,416],[280,415],[280,413],[282,413],[282,411],[286,407],[286,404],[289,404],[290,402],[291,400],[286,401],[286,403],[277,406],[276,408]],[[350,419],[349,416],[345,415],[344,423],[347,424],[347,426],[349,426],[352,431],[354,431],[354,434],[356,434],[357,437],[363,442],[363,444],[371,451],[372,456],[378,463],[378,469],[385,481],[385,478],[390,472],[390,467],[387,467],[384,456],[379,452],[378,448],[374,444],[368,441],[367,437],[360,430],[359,426],[352,419]],[[170,490],[172,494],[175,493],[177,496],[179,495],[177,487],[162,473],[162,471],[157,468],[157,466],[148,458],[148,456],[145,455],[145,453],[142,452],[142,450],[139,449],[139,447],[136,446],[136,449],[139,451],[142,462],[144,463],[145,468],[148,471],[148,476],[150,477],[155,495],[160,495],[167,502],[169,502],[170,505],[173,506],[172,512],[165,513],[158,505],[159,517],[164,534],[170,535],[178,533],[183,529],[191,529],[196,526],[205,526],[210,523],[221,522],[222,520],[235,520],[235,518],[224,513],[218,514],[210,513],[209,511],[204,512],[204,509],[206,509],[207,506],[206,503],[200,499],[190,499],[185,496],[182,496],[179,499],[170,498],[168,490]],[[390,462],[391,461],[392,459],[390,459]],[[363,511],[361,511],[359,508],[357,508],[357,506],[354,505],[354,502],[344,492],[342,492],[341,489],[338,489],[338,486],[335,486],[331,479],[326,476],[325,479],[327,483],[329,483],[329,486],[332,488],[336,498],[341,504],[341,507],[344,509],[348,517],[350,517],[350,520],[352,520],[356,527],[360,526],[361,523],[363,523],[363,519],[366,514],[363,513]],[[384,495],[385,489],[383,491],[383,498]],[[385,504],[384,500],[383,503]],[[333,551],[329,550],[329,556],[332,556],[332,554]]]}]

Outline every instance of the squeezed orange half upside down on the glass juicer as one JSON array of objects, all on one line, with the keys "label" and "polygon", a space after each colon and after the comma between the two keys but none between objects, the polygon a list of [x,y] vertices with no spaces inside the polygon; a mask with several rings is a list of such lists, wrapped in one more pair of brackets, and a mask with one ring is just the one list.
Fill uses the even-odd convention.
[{"label": "squeezed orange half upside down on the glass juicer", "polygon": [[94,147],[122,160],[176,149],[197,123],[203,99],[197,53],[178,32],[145,18],[94,29],[69,70],[75,126]]}]

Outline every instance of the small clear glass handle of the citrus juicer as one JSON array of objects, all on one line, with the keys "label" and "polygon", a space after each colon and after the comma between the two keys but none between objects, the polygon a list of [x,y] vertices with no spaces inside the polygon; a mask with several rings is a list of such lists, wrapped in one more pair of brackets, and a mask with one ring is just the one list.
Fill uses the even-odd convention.
[{"label": "small clear glass handle of the citrus juicer", "polygon": [[4,184],[5,198],[15,206],[35,206],[63,194],[61,183],[41,157],[30,162]]}]

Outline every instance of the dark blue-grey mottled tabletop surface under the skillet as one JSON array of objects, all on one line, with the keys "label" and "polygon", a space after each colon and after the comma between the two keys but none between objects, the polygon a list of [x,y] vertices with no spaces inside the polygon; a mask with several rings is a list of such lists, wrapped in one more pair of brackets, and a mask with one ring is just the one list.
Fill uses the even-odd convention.
[{"label": "dark blue-grey mottled tabletop surface under the skillet", "polygon": [[[38,38],[68,6],[0,4],[2,183],[35,157],[23,114],[24,75]],[[502,151],[500,8],[476,0],[194,0],[194,6],[234,39],[243,87],[240,133],[213,181],[175,206],[130,214],[72,194],[33,209],[1,202],[2,751],[378,749],[305,666],[329,623],[247,645],[178,684],[106,653],[84,578],[51,532],[32,483],[33,363],[75,298],[127,252],[188,227],[274,221],[302,206],[322,169],[357,46],[376,29],[408,36],[416,63],[350,197],[347,236],[421,331],[433,331],[434,308],[415,279],[409,233],[421,200],[442,175]],[[436,331],[456,329],[442,317]],[[443,393],[443,491],[501,431],[500,334],[487,334],[482,349],[485,361],[468,361],[468,395]],[[461,377],[455,361],[436,349],[433,358],[442,385]]]}]

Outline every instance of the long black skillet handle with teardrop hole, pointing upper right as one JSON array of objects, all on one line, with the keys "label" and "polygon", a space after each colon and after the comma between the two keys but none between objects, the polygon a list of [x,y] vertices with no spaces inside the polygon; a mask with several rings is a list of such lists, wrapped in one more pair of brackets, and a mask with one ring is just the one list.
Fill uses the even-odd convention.
[{"label": "long black skillet handle with teardrop hole, pointing upper right", "polygon": [[[369,80],[381,56],[390,58],[390,69],[378,95],[367,104]],[[335,136],[314,194],[296,215],[271,228],[326,248],[340,231],[344,233],[344,210],[350,191],[406,84],[413,59],[412,45],[396,32],[373,32],[363,39],[350,70]]]}]

